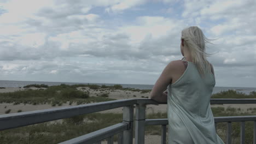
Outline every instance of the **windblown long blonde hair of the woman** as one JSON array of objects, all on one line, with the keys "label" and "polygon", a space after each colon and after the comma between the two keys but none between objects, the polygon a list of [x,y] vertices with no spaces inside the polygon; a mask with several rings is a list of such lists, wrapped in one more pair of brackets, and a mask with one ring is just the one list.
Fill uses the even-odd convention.
[{"label": "windblown long blonde hair of the woman", "polygon": [[211,71],[211,64],[206,57],[212,54],[205,52],[205,44],[210,43],[210,39],[206,38],[201,29],[196,26],[183,29],[182,39],[201,77],[205,76],[207,71]]}]

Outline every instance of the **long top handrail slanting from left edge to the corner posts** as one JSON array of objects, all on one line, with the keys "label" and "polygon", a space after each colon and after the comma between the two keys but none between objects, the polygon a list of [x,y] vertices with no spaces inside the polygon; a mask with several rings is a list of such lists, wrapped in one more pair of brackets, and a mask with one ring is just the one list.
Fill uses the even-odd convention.
[{"label": "long top handrail slanting from left edge to the corner posts", "polygon": [[56,119],[104,111],[117,107],[133,105],[136,103],[136,99],[123,99],[104,101],[93,104],[58,107],[54,109],[4,114],[0,115],[0,130],[22,127],[42,122],[49,122]]}]

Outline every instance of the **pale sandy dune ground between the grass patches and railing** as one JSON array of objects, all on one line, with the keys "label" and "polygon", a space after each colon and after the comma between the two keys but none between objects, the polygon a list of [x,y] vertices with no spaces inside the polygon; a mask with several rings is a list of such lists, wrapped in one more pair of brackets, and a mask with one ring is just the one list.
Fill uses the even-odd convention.
[{"label": "pale sandy dune ground between the grass patches and railing", "polygon": [[[22,91],[26,88],[5,88],[0,89],[0,93],[3,92],[15,92],[15,91]],[[31,89],[38,89],[36,87],[32,87]],[[90,96],[97,97],[97,94],[100,95],[101,93],[109,93],[109,98],[113,99],[132,99],[132,98],[150,98],[150,93],[141,93],[141,92],[133,92],[133,91],[121,91],[121,90],[114,90],[109,91],[107,89],[102,89],[104,91],[97,91],[94,89],[90,89],[88,87],[79,87],[80,91],[89,91]],[[135,96],[134,96],[135,95]],[[1,103],[0,104],[0,115],[5,114],[4,112],[8,109],[11,109],[10,113],[15,113],[18,110],[24,111],[34,111],[34,110],[43,110],[43,109],[53,109],[55,107],[63,107],[63,106],[73,106],[77,105],[75,102],[72,105],[69,105],[69,101],[67,103],[63,103],[62,106],[51,106],[51,104],[18,104],[13,105],[13,103]],[[5,107],[6,106],[6,107]],[[225,109],[228,107],[240,107],[241,112],[246,112],[247,109],[250,107],[254,108],[256,107],[256,104],[223,104],[223,105],[211,105],[211,107],[224,107]],[[5,107],[5,108],[4,108]],[[117,109],[111,109],[106,111],[101,111],[101,113],[122,113],[123,107],[119,107]],[[161,104],[161,105],[147,105],[146,106],[146,113],[156,113],[156,112],[167,112],[167,105]],[[250,112],[250,111],[249,111]]]}]

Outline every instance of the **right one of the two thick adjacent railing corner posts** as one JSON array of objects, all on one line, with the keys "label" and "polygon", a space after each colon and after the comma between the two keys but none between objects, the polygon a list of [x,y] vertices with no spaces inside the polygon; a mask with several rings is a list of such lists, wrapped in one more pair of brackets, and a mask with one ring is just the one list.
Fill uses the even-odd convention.
[{"label": "right one of the two thick adjacent railing corner posts", "polygon": [[144,144],[146,104],[136,104],[135,144]]}]

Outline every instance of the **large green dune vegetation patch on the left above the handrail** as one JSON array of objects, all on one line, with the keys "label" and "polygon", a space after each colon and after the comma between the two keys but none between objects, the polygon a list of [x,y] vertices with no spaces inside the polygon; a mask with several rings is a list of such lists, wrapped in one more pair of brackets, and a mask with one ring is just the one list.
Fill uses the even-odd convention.
[{"label": "large green dune vegetation patch on the left above the handrail", "polygon": [[[26,87],[37,86],[28,85]],[[42,85],[38,85],[39,87]],[[0,103],[14,103],[14,105],[23,104],[51,104],[62,105],[62,101],[77,101],[79,104],[97,103],[101,101],[115,100],[106,97],[90,97],[89,91],[79,91],[78,87],[84,87],[88,85],[65,85],[59,86],[44,86],[46,89],[25,89],[24,91],[0,93]],[[95,87],[92,85],[92,87]],[[106,96],[106,95],[104,95]],[[66,102],[65,102],[66,103]]]}]

